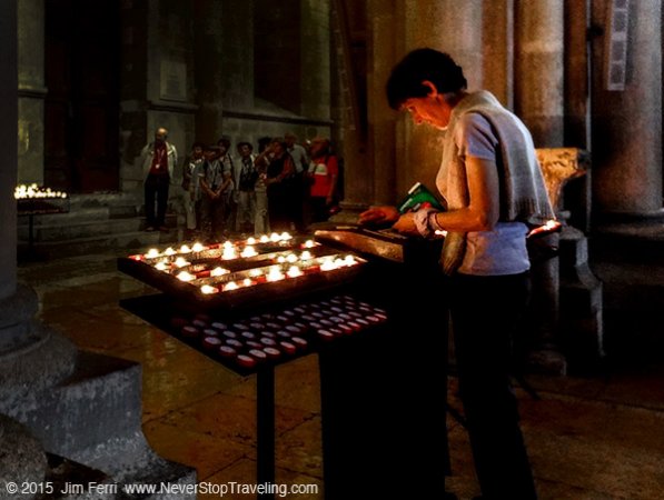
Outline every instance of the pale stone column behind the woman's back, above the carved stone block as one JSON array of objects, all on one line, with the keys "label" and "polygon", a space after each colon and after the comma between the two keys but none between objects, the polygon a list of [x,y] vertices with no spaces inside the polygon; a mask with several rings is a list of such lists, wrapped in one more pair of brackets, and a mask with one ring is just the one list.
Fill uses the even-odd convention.
[{"label": "pale stone column behind the woman's back, above the carved stone block", "polygon": [[537,148],[563,146],[563,21],[559,0],[517,2],[515,111]]}]

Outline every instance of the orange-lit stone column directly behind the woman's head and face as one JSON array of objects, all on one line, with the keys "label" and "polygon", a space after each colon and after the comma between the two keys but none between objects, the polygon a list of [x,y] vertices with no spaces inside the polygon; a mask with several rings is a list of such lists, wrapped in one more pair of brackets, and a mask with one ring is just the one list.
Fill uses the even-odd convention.
[{"label": "orange-lit stone column directly behind the woman's head and face", "polygon": [[[412,2],[399,0],[403,16],[404,44],[397,47],[400,59],[407,52],[420,47],[448,52],[464,68],[468,89],[483,86],[482,27],[483,2],[467,0],[425,0]],[[430,20],[435,19],[436,22]],[[413,183],[422,181],[435,186],[440,166],[443,133],[428,126],[416,127],[404,113],[397,124],[397,198]]]}]

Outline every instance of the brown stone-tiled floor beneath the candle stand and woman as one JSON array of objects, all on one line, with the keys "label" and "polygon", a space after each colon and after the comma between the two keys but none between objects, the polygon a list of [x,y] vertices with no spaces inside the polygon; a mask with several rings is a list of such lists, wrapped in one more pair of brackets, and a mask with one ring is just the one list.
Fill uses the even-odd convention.
[{"label": "brown stone-tiled floor beneath the candle stand and woman", "polygon": [[[153,290],[118,272],[116,257],[23,263],[19,277],[38,291],[43,322],[81,349],[142,364],[143,430],[159,454],[195,467],[199,481],[254,483],[255,379],[232,373],[121,309],[120,299]],[[613,276],[608,268],[603,272]],[[317,359],[279,367],[276,378],[277,483],[317,484],[318,493],[286,498],[321,499]],[[643,363],[607,363],[584,378],[529,376],[528,381],[541,399],[519,389],[517,394],[541,499],[664,498],[661,353]],[[460,408],[455,386],[452,378],[449,398]],[[456,420],[448,417],[447,424],[453,469],[447,486],[468,499],[479,491],[467,437]]]}]

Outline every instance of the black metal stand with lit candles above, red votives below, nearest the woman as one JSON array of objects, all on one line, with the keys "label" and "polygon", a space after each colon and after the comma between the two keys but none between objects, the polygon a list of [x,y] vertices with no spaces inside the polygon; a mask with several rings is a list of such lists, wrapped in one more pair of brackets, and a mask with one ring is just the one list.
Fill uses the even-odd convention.
[{"label": "black metal stand with lit candles above, red votives below, nearest the woman", "polygon": [[334,357],[331,346],[346,350],[380,332],[385,310],[346,293],[365,264],[287,234],[152,250],[118,259],[118,269],[162,293],[121,306],[232,371],[256,374],[257,479],[271,484],[275,368],[310,353]]}]

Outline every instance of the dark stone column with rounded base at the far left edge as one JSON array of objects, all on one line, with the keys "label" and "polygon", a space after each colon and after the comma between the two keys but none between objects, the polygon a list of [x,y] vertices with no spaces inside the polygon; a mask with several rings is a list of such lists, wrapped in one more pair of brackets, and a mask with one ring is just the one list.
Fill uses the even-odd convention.
[{"label": "dark stone column with rounded base at the far left edge", "polygon": [[34,324],[37,294],[17,282],[17,1],[0,2],[0,400],[11,406],[73,370],[75,348]]}]

